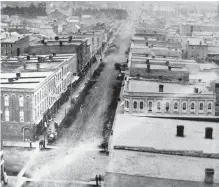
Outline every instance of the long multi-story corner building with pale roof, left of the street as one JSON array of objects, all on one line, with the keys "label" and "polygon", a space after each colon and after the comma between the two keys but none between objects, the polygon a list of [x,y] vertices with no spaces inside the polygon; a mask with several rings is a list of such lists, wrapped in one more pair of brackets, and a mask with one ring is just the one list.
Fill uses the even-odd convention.
[{"label": "long multi-story corner building with pale roof, left of the street", "polygon": [[[10,63],[10,60],[3,63]],[[1,73],[3,138],[34,140],[44,122],[57,112],[68,97],[75,54],[24,58],[17,73]],[[19,72],[19,73],[18,73]]]}]

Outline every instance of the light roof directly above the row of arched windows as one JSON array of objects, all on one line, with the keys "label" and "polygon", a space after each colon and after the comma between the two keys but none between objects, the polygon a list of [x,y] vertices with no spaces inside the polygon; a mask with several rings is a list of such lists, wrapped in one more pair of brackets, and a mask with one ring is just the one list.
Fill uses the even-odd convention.
[{"label": "light roof directly above the row of arched windows", "polygon": [[[160,93],[159,85],[163,85],[163,92],[171,94],[213,94],[212,91],[204,86],[200,85],[189,85],[180,83],[166,83],[166,82],[155,82],[145,80],[133,80],[130,79],[125,83],[125,91],[127,92],[141,92],[141,93]],[[198,88],[199,93],[194,93],[194,89]]]}]

